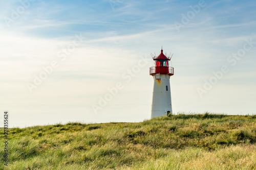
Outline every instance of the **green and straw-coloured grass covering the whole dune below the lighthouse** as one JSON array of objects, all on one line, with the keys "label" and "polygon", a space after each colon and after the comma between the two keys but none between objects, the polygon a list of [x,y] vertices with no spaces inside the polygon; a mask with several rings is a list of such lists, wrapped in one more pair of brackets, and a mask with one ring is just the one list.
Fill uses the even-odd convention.
[{"label": "green and straw-coloured grass covering the whole dune below the lighthouse", "polygon": [[[4,155],[1,128],[0,155]],[[178,114],[141,123],[9,129],[0,169],[256,169],[256,116]]]}]

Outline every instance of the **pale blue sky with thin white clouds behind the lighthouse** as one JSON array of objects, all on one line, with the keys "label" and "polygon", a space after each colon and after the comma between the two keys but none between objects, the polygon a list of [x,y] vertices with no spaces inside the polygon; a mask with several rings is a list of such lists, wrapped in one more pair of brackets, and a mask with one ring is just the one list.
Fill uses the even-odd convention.
[{"label": "pale blue sky with thin white clouds behind the lighthouse", "polygon": [[161,46],[174,114],[256,114],[255,28],[252,0],[1,0],[1,127],[150,119]]}]

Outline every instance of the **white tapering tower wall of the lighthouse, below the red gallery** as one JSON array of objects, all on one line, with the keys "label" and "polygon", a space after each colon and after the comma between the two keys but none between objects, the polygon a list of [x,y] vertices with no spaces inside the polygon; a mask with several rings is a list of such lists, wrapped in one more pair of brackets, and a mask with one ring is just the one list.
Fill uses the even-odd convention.
[{"label": "white tapering tower wall of the lighthouse, below the red gallery", "polygon": [[[151,118],[172,114],[172,99],[170,97],[170,76],[155,74]],[[167,86],[167,90],[166,90]]]}]

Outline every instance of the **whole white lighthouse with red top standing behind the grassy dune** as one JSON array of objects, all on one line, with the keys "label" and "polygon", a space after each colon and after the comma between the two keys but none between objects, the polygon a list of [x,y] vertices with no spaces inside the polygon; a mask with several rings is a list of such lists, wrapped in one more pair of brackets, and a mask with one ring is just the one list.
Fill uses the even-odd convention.
[{"label": "whole white lighthouse with red top standing behind the grassy dune", "polygon": [[174,68],[169,67],[170,59],[163,54],[163,49],[158,57],[153,57],[155,66],[150,67],[150,75],[154,79],[151,118],[173,113],[170,77],[174,75]]}]

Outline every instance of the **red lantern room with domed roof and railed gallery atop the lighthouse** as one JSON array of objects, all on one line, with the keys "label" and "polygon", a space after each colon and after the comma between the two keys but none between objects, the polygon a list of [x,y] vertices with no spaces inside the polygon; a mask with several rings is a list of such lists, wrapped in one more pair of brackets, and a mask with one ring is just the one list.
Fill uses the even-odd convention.
[{"label": "red lantern room with domed roof and railed gallery atop the lighthouse", "polygon": [[169,76],[174,75],[174,68],[169,67],[170,58],[167,58],[163,54],[163,49],[158,57],[153,57],[153,60],[155,60],[155,66],[150,67],[151,76],[154,76],[155,74],[168,74]]}]

